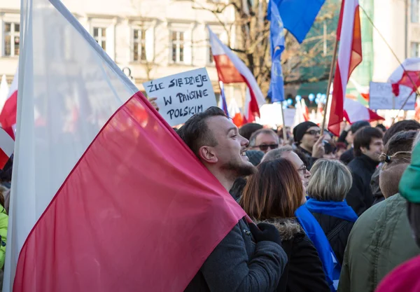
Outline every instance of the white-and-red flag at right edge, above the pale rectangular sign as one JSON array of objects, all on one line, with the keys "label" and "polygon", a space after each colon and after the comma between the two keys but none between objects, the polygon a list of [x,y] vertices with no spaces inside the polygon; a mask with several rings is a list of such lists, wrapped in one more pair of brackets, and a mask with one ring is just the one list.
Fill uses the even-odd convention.
[{"label": "white-and-red flag at right edge, above the pale rectangular sign", "polygon": [[399,86],[405,85],[412,88],[413,92],[417,91],[420,86],[420,58],[409,58],[404,60],[400,66],[389,76],[388,82],[393,85],[393,93],[395,96],[399,94]]}]

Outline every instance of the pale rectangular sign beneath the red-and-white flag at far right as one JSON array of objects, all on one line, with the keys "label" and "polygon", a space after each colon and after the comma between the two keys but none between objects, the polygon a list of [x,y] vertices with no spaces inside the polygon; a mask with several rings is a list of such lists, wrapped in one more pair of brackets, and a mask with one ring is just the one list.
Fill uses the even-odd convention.
[{"label": "pale rectangular sign beneath the red-and-white flag at far right", "polygon": [[400,95],[395,97],[391,83],[371,82],[369,91],[370,109],[401,109],[402,104],[409,97],[402,109],[405,111],[414,110],[416,92],[412,93],[412,88],[400,85]]}]

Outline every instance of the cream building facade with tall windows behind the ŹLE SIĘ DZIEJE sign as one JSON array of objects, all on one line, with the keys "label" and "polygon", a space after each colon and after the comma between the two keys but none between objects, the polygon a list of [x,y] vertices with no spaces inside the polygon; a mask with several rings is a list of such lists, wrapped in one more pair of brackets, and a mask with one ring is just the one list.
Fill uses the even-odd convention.
[{"label": "cream building facade with tall windows behind the \u0179LE SI\u0118 DZIEJE sign", "polygon": [[[235,44],[235,11],[224,0],[64,0],[63,3],[140,90],[142,83],[207,67],[217,86],[207,25]],[[20,53],[20,0],[0,0],[0,76],[11,82]]]}]

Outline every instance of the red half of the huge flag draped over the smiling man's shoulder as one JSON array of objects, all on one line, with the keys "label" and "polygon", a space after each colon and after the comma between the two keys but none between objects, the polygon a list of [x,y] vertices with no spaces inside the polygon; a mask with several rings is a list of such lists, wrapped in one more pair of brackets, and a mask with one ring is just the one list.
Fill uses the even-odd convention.
[{"label": "red half of the huge flag draped over the smiling man's shoulder", "polygon": [[183,291],[244,215],[137,93],[27,237],[13,291]]}]

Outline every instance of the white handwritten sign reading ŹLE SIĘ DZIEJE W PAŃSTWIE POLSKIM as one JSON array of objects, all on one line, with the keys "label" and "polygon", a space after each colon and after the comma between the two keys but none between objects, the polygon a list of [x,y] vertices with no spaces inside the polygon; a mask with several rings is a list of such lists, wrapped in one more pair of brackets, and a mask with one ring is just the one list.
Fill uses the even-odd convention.
[{"label": "white handwritten sign reading \u0179LE SI\u0118 DZIEJE W PA\u0143STWIE POLSKIM", "polygon": [[207,70],[195,69],[143,83],[148,97],[157,97],[159,113],[171,126],[185,123],[195,113],[216,106]]}]

